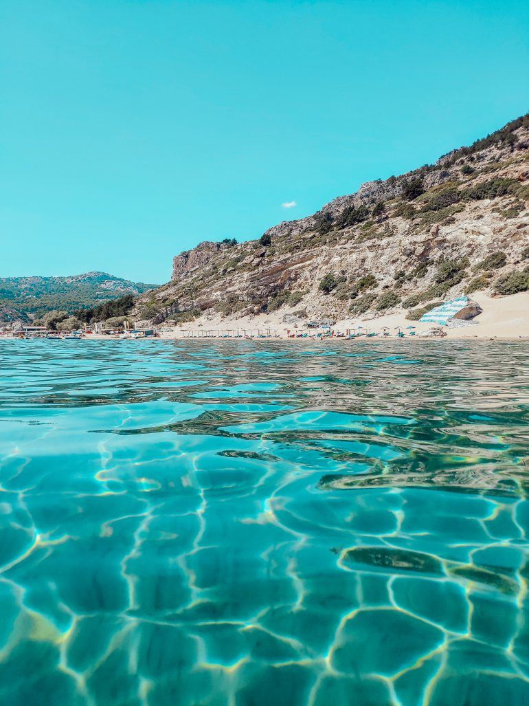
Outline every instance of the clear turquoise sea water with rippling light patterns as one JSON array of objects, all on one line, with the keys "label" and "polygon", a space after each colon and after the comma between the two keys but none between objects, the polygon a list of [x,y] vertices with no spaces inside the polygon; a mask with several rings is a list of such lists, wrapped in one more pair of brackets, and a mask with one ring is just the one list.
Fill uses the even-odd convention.
[{"label": "clear turquoise sea water with rippling light patterns", "polygon": [[3,705],[529,702],[529,346],[0,342]]}]

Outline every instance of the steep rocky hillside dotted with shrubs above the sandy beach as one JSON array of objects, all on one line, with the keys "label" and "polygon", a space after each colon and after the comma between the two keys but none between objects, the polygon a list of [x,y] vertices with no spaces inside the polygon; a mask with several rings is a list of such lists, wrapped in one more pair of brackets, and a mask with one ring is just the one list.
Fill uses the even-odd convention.
[{"label": "steep rocky hillside dotted with shrubs above the sandy beach", "polygon": [[458,294],[529,289],[529,114],[399,177],[363,184],[259,240],[205,241],[135,316],[183,323],[284,309],[411,319]]}]

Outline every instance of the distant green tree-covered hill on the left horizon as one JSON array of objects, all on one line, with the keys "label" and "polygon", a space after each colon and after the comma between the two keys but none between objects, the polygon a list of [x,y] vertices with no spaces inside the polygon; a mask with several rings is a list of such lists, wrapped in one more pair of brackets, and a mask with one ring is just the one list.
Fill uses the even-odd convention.
[{"label": "distant green tree-covered hill on the left horizon", "polygon": [[0,277],[0,321],[30,321],[46,311],[71,313],[124,294],[142,294],[157,285],[131,282],[104,272],[71,277]]}]

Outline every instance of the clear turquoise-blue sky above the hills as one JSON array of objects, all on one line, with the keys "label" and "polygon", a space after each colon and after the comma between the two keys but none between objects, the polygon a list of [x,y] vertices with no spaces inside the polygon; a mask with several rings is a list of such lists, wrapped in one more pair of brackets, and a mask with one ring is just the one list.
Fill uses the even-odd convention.
[{"label": "clear turquoise-blue sky above the hills", "polygon": [[0,86],[0,276],[162,283],[528,112],[529,4],[3,0]]}]

